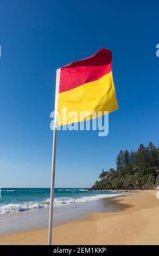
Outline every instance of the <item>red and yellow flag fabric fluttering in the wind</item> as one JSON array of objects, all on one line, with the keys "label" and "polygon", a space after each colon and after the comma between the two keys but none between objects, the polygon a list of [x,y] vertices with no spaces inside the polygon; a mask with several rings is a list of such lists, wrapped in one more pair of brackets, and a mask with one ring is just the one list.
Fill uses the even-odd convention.
[{"label": "red and yellow flag fabric fluttering in the wind", "polygon": [[[67,115],[76,112],[76,115]],[[112,76],[112,53],[101,48],[93,56],[73,62],[60,69],[58,88],[58,125],[93,118],[87,113],[109,113],[118,108]],[[85,111],[86,115],[80,112]]]}]

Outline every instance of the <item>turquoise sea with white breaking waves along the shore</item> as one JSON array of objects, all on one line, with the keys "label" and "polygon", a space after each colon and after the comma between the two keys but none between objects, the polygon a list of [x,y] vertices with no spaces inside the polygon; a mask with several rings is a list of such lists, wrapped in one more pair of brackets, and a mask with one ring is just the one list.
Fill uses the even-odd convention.
[{"label": "turquoise sea with white breaking waves along the shore", "polygon": [[[55,188],[55,207],[120,196],[112,191],[88,191],[85,188]],[[49,188],[2,188],[0,214],[49,207]]]}]

